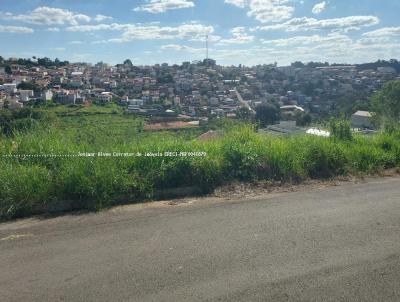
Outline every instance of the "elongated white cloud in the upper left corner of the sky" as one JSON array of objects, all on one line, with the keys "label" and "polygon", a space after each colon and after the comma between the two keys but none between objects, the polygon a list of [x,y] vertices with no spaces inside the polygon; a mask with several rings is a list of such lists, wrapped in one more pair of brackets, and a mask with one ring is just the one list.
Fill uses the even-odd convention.
[{"label": "elongated white cloud in the upper left corner of the sky", "polygon": [[79,22],[90,22],[91,18],[84,14],[78,14],[66,9],[41,6],[28,14],[13,15],[6,13],[2,19],[21,21],[36,25],[78,25]]}]

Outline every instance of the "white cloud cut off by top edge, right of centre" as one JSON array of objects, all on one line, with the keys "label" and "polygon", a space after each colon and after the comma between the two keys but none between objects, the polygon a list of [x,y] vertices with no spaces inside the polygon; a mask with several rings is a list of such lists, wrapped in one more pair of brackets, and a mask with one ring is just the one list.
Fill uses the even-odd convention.
[{"label": "white cloud cut off by top edge, right of centre", "polygon": [[287,20],[294,12],[289,0],[225,0],[225,3],[247,8],[247,15],[262,23]]}]

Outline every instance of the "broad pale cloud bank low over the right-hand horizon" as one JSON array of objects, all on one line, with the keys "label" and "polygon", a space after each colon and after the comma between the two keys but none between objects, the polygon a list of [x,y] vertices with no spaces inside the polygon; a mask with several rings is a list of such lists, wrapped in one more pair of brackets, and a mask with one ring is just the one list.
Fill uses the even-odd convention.
[{"label": "broad pale cloud bank low over the right-hand horizon", "polygon": [[264,41],[265,46],[243,49],[217,49],[213,58],[221,64],[258,65],[278,62],[280,65],[294,61],[321,61],[331,63],[362,63],[400,56],[398,43],[365,45],[345,35],[299,36],[288,39]]}]

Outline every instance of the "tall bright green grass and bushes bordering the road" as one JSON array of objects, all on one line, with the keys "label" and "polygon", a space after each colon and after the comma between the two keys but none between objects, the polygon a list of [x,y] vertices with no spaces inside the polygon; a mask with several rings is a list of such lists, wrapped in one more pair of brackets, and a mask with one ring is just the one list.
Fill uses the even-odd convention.
[{"label": "tall bright green grass and bushes bordering the road", "polygon": [[[272,137],[251,125],[226,127],[222,139],[196,133],[139,131],[131,117],[64,117],[34,131],[0,137],[0,217],[32,214],[68,200],[100,209],[119,198],[143,200],[158,190],[197,186],[210,192],[232,180],[299,182],[372,173],[400,165],[400,132],[366,138]],[[346,131],[345,131],[346,132]],[[339,131],[341,133],[341,131]],[[79,152],[206,152],[205,157],[10,157]]]}]

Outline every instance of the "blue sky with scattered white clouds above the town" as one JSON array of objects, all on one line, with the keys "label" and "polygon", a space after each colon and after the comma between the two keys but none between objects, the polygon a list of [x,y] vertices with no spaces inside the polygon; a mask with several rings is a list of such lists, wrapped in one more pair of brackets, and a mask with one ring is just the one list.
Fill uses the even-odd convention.
[{"label": "blue sky with scattered white clouds above the town", "polygon": [[0,0],[0,55],[135,65],[400,57],[399,0]]}]

